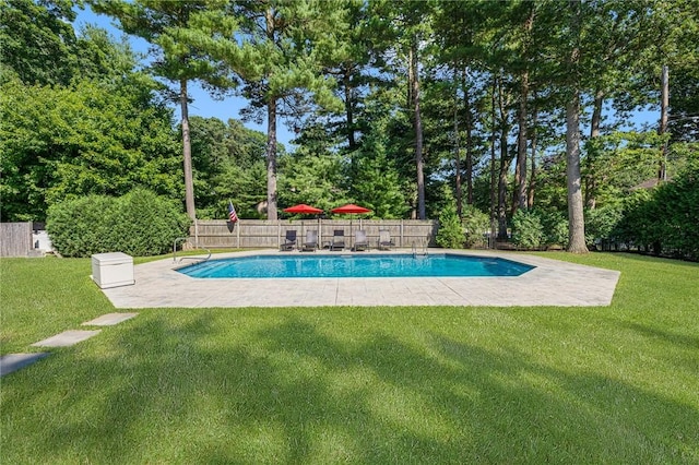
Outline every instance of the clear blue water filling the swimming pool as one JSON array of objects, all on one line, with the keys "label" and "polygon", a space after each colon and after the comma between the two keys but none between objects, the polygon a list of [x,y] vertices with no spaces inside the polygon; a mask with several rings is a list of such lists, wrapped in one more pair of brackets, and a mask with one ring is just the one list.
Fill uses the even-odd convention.
[{"label": "clear blue water filling the swimming pool", "polygon": [[177,270],[191,277],[519,276],[534,266],[449,253],[253,255],[209,260]]}]

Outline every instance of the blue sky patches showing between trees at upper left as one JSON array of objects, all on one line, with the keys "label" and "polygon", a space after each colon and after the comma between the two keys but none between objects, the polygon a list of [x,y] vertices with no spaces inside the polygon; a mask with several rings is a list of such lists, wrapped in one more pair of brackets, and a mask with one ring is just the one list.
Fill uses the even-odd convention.
[{"label": "blue sky patches showing between trees at upper left", "polygon": [[[80,27],[84,24],[92,24],[104,29],[107,29],[116,39],[121,37],[123,33],[117,26],[115,26],[116,21],[109,16],[103,14],[95,14],[90,10],[90,7],[85,5],[84,10],[80,10],[75,8],[75,12],[78,13],[78,17],[75,19],[74,27],[78,32]],[[147,51],[147,43],[144,39],[128,36],[129,41],[135,51],[145,53]],[[227,121],[228,119],[238,119],[240,120],[240,108],[245,107],[247,102],[244,98],[229,96],[224,100],[214,100],[211,96],[201,88],[198,83],[191,83],[189,86],[189,94],[191,99],[193,100],[189,105],[189,116],[200,116],[204,118],[218,118],[222,121]],[[179,119],[179,106],[173,105],[175,109],[176,118]],[[247,128],[263,132],[266,134],[266,122],[264,124],[256,124],[253,122],[245,122]],[[294,134],[286,129],[283,121],[277,121],[276,123],[276,139],[279,142],[283,143],[287,150],[293,150],[291,144],[291,140],[294,138]]]}]

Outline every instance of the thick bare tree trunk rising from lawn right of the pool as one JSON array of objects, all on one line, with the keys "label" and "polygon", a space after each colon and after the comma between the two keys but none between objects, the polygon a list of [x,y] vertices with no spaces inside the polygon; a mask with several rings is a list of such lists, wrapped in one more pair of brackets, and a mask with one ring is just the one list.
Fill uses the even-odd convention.
[{"label": "thick bare tree trunk rising from lawn right of the pool", "polygon": [[580,94],[566,105],[566,177],[568,181],[568,251],[588,253],[580,180]]}]

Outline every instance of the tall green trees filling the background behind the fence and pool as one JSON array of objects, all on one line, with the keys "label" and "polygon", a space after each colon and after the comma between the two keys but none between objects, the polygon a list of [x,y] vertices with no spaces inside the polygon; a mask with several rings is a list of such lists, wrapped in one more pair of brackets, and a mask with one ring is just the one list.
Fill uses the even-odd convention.
[{"label": "tall green trees filling the background behind the fence and pool", "polygon": [[[455,203],[463,219],[471,205],[501,238],[536,208],[568,218],[584,251],[587,217],[659,172],[672,182],[697,151],[691,0],[90,1],[150,41],[147,62],[75,32],[69,0],[2,1],[3,220],[138,184],[186,193],[201,217],[224,217],[228,199],[268,218],[297,202],[387,218]],[[667,123],[635,123],[660,120],[663,69]],[[191,80],[246,99],[241,118],[266,134],[235,115],[190,120]],[[297,134],[289,153],[277,119]]]}]

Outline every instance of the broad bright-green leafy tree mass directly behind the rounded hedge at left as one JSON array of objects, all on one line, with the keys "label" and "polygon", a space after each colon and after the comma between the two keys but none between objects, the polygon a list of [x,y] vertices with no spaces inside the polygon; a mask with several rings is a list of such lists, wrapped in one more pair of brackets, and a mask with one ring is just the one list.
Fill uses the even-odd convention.
[{"label": "broad bright-green leafy tree mass directly behind the rounded hedge at left", "polygon": [[[44,219],[48,205],[134,186],[179,198],[181,164],[170,114],[104,83],[0,86],[3,220]],[[11,117],[10,117],[11,115]]]}]

